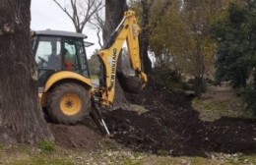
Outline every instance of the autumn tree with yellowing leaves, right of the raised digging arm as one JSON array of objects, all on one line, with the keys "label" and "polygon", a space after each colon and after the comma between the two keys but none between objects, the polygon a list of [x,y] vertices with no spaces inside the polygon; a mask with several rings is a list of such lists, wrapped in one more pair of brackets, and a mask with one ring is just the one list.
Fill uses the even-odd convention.
[{"label": "autumn tree with yellowing leaves, right of the raised digging arm", "polygon": [[157,65],[194,78],[198,96],[204,89],[205,75],[214,72],[216,41],[210,29],[223,8],[221,0],[173,0],[151,35]]}]

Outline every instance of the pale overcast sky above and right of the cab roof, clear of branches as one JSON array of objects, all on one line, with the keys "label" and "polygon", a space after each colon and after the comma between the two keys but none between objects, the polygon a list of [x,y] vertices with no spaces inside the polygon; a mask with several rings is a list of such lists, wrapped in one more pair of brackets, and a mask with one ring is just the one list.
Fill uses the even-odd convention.
[{"label": "pale overcast sky above and right of the cab roof, clear of branches", "polygon": [[[32,30],[42,29],[59,29],[75,31],[71,20],[68,16],[59,9],[52,0],[32,0]],[[99,48],[97,44],[96,32],[89,27],[84,29],[84,33],[88,35],[86,39],[89,42],[95,43],[94,46],[87,48],[87,54],[90,57],[95,49]]]}]

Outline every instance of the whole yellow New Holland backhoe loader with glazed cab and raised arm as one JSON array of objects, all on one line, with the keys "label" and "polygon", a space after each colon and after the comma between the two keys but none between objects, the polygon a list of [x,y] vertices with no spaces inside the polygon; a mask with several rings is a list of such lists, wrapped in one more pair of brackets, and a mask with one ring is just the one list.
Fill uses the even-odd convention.
[{"label": "whole yellow New Holland backhoe loader with glazed cab and raised arm", "polygon": [[[147,76],[141,66],[139,32],[135,12],[128,10],[107,44],[98,52],[98,87],[93,87],[90,79],[85,34],[59,30],[32,32],[32,51],[38,68],[39,98],[49,117],[56,123],[75,124],[92,114],[109,134],[101,116],[101,109],[112,107],[117,61],[125,41],[131,68],[135,71],[134,77],[140,80],[135,90],[143,88],[147,83]],[[134,79],[123,82],[129,85],[129,80]]]}]

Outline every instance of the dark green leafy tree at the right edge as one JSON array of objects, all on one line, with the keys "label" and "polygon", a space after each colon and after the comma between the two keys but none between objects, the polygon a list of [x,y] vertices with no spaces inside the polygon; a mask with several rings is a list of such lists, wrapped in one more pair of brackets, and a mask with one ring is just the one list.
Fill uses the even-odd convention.
[{"label": "dark green leafy tree at the right edge", "polygon": [[256,113],[256,2],[231,3],[227,15],[214,27],[218,40],[217,83],[247,88],[245,102]]}]

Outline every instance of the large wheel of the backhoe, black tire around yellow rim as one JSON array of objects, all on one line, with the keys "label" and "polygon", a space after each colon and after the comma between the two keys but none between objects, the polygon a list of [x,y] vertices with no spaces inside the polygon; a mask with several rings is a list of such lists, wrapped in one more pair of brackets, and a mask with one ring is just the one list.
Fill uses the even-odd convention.
[{"label": "large wheel of the backhoe, black tire around yellow rim", "polygon": [[[79,106],[76,103],[74,104],[74,99],[78,100]],[[76,106],[75,108],[74,105]],[[71,114],[67,111],[70,107],[75,109]],[[77,83],[57,85],[50,92],[47,100],[47,112],[54,123],[76,124],[89,115],[90,108],[91,98],[89,91]]]}]

